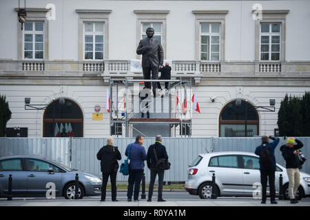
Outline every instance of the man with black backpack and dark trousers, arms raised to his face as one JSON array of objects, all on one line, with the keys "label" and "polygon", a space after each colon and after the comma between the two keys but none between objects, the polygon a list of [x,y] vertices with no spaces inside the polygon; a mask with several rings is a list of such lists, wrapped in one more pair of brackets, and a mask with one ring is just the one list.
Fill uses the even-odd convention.
[{"label": "man with black backpack and dark trousers, arms raised to his face", "polygon": [[[269,138],[273,142],[269,143]],[[260,183],[262,184],[262,204],[266,203],[267,178],[269,179],[269,191],[271,204],[276,204],[276,157],[274,150],[278,145],[279,137],[272,137],[268,135],[262,136],[262,144],[256,147],[255,154],[260,156]]]}]

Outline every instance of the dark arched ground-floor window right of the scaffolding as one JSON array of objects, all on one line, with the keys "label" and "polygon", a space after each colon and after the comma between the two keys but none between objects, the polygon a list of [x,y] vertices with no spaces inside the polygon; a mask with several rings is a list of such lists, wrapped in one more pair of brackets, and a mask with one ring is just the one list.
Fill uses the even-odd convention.
[{"label": "dark arched ground-floor window right of the scaffolding", "polygon": [[[246,107],[247,106],[247,107]],[[245,115],[247,109],[247,137],[253,137],[259,133],[259,120],[256,109],[242,100],[240,106],[236,106],[236,100],[229,102],[220,112],[220,137],[245,137]]]}]

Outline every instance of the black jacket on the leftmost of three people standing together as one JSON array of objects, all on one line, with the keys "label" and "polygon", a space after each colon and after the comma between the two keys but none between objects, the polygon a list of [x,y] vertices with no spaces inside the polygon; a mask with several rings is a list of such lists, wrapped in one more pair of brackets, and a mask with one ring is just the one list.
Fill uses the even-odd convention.
[{"label": "black jacket on the leftmost of three people standing together", "polygon": [[97,159],[101,160],[101,172],[112,173],[114,172],[115,165],[118,165],[117,160],[122,159],[121,153],[118,151],[117,146],[103,146],[97,153]]}]

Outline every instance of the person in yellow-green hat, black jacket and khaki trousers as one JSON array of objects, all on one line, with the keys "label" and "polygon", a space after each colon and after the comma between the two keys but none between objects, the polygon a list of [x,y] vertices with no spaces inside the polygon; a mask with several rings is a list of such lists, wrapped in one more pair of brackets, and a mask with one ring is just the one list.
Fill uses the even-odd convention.
[{"label": "person in yellow-green hat, black jacket and khaki trousers", "polygon": [[300,185],[300,159],[298,157],[300,151],[298,151],[298,149],[302,148],[302,146],[304,146],[304,144],[302,144],[300,140],[294,137],[289,137],[287,138],[287,144],[280,147],[282,156],[285,159],[287,175],[289,176],[289,199],[291,199],[291,203],[298,203],[295,197]]}]

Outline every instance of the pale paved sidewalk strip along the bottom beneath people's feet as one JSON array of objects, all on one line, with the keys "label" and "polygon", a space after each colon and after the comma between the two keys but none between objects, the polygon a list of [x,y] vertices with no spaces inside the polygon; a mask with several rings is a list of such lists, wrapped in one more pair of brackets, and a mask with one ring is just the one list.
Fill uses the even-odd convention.
[{"label": "pale paved sidewalk strip along the bottom beneath people's feet", "polygon": [[169,199],[166,202],[157,202],[156,199],[152,202],[146,200],[141,201],[126,201],[125,199],[119,199],[117,202],[109,200],[99,201],[98,199],[87,200],[66,200],[66,199],[54,199],[54,200],[15,200],[5,201],[0,200],[0,206],[310,206],[310,200],[305,199],[297,204],[291,204],[289,201],[278,201],[278,204],[271,205],[269,201],[267,204],[261,204],[259,199],[193,199],[193,200],[180,200]]}]

